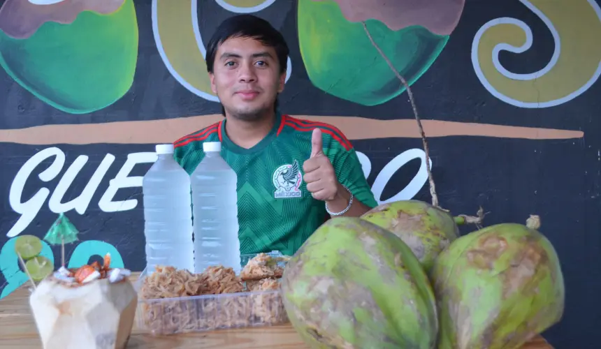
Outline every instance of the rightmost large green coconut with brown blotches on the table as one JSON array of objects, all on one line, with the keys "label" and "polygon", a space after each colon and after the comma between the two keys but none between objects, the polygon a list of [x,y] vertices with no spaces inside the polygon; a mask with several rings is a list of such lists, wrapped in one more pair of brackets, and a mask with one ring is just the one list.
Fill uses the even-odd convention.
[{"label": "rightmost large green coconut with brown blotches on the table", "polygon": [[504,223],[456,239],[435,260],[440,349],[512,349],[559,322],[565,286],[553,245],[526,225]]}]

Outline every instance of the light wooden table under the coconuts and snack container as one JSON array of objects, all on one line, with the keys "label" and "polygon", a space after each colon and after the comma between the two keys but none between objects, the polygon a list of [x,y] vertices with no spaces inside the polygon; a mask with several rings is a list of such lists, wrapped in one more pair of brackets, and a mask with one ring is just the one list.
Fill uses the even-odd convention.
[{"label": "light wooden table under the coconuts and snack container", "polygon": [[[139,273],[132,274],[132,280],[138,278]],[[29,311],[28,286],[29,283],[0,300],[1,349],[41,348],[36,323]],[[171,336],[152,336],[134,325],[127,348],[307,349],[307,346],[290,325],[226,329]],[[537,336],[522,349],[553,349],[553,347],[541,336]]]}]

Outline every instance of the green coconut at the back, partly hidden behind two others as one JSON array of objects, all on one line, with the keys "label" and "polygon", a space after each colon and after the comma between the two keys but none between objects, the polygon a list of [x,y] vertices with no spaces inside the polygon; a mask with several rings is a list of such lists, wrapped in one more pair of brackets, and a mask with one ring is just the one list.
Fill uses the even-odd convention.
[{"label": "green coconut at the back, partly hidden behind two others", "polygon": [[361,218],[403,239],[426,272],[436,256],[459,237],[459,228],[451,214],[419,200],[382,204]]}]

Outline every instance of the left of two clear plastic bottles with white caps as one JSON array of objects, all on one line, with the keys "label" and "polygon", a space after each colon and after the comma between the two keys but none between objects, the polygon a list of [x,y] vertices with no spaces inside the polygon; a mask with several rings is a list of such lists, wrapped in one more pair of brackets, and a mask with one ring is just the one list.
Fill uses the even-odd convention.
[{"label": "left of two clear plastic bottles with white caps", "polygon": [[194,272],[190,177],[173,159],[173,144],[158,144],[157,161],[142,181],[147,272],[167,265]]}]

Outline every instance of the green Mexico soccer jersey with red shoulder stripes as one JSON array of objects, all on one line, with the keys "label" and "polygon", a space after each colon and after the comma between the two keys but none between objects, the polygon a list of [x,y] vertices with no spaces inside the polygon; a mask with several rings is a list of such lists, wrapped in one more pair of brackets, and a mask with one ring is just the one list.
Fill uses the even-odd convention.
[{"label": "green Mexico soccer jersey with red shoulder stripes", "polygon": [[175,141],[174,158],[191,174],[203,159],[203,142],[222,142],[221,155],[238,174],[242,254],[277,250],[292,255],[328,218],[325,203],[315,200],[303,181],[303,163],[311,154],[316,127],[338,181],[356,200],[377,205],[351,142],[338,128],[277,114],[266,138],[245,149],[229,140],[225,123],[224,119]]}]

